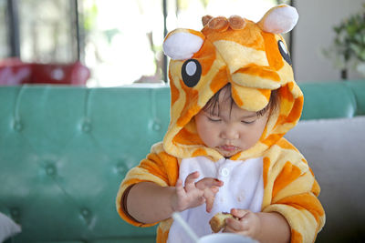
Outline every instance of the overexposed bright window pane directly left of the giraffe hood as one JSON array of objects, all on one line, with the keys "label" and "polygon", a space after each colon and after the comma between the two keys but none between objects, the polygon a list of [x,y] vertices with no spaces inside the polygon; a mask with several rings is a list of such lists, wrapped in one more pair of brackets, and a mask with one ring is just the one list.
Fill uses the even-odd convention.
[{"label": "overexposed bright window pane directly left of the giraffe hood", "polygon": [[162,0],[83,0],[89,86],[162,82]]}]

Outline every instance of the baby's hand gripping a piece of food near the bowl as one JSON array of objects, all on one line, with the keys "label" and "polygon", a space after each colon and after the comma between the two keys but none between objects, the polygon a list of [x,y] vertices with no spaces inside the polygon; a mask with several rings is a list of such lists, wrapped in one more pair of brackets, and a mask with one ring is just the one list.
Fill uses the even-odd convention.
[{"label": "baby's hand gripping a piece of food near the bowl", "polygon": [[261,233],[261,221],[255,213],[245,209],[232,209],[231,214],[235,218],[225,219],[224,232],[258,238]]}]

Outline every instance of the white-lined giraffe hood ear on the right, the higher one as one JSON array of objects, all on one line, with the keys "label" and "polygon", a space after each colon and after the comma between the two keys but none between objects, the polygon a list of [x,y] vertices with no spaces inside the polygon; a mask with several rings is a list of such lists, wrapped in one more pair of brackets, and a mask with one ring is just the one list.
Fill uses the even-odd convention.
[{"label": "white-lined giraffe hood ear on the right, the higher one", "polygon": [[297,9],[289,5],[276,5],[257,23],[260,28],[273,34],[285,34],[297,25]]}]

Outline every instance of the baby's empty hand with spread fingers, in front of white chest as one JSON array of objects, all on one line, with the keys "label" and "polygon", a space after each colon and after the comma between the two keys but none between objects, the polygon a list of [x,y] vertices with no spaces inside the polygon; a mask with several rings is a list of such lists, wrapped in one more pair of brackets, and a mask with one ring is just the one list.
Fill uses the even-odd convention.
[{"label": "baby's empty hand with spread fingers, in front of white chest", "polygon": [[219,187],[223,186],[223,181],[216,178],[205,177],[195,183],[199,177],[199,172],[193,172],[183,181],[178,179],[175,185],[176,193],[172,196],[172,210],[183,211],[187,208],[195,208],[206,203],[206,211],[213,208],[214,197]]}]

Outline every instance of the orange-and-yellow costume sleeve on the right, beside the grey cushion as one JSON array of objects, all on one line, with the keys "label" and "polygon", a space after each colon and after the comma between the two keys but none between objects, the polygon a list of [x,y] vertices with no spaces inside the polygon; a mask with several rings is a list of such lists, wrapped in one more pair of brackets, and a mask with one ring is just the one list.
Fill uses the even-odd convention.
[{"label": "orange-and-yellow costume sleeve on the right, beside the grey cushion", "polygon": [[[281,143],[289,146],[287,141]],[[263,211],[277,212],[287,219],[291,242],[314,242],[326,220],[318,200],[318,182],[297,149],[281,150],[266,180],[271,201]]]}]

